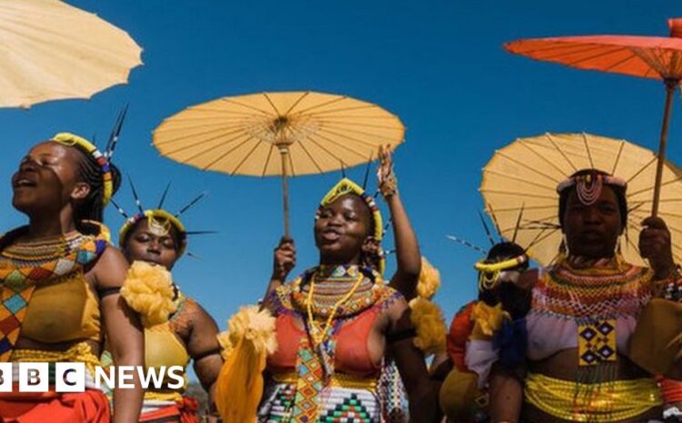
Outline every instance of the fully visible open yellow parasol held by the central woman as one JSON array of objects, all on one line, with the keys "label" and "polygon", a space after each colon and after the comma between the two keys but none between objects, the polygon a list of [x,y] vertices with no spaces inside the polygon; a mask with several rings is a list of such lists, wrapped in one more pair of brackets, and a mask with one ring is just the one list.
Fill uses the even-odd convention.
[{"label": "fully visible open yellow parasol held by the central woman", "polygon": [[163,156],[202,170],[282,176],[288,236],[287,176],[366,163],[379,146],[397,146],[404,136],[397,116],[379,106],[295,91],[223,97],[188,107],[155,129],[154,145]]}]

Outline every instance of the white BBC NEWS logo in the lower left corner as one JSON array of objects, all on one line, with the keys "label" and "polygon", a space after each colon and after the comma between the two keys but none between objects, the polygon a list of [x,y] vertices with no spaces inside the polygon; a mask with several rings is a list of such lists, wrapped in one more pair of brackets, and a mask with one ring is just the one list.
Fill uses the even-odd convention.
[{"label": "white BBC NEWS logo in the lower left corner", "polygon": [[182,366],[95,367],[95,375],[90,375],[85,370],[85,363],[0,363],[0,392],[12,392],[16,385],[19,392],[85,392],[85,388],[132,389],[135,388],[135,375],[139,377],[144,389],[179,389],[185,386],[184,374],[185,368]]}]

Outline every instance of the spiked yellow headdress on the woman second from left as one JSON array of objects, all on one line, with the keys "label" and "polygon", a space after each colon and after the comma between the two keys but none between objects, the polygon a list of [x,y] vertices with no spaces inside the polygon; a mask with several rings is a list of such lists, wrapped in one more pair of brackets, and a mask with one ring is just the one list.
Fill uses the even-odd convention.
[{"label": "spiked yellow headdress on the woman second from left", "polygon": [[178,256],[182,256],[186,252],[188,235],[199,235],[209,233],[209,231],[187,231],[185,225],[182,223],[182,221],[180,221],[179,218],[189,208],[195,206],[196,203],[199,202],[199,200],[206,196],[206,193],[199,194],[186,206],[182,207],[177,213],[173,214],[166,211],[163,208],[165,197],[168,194],[170,184],[168,184],[168,186],[165,187],[164,194],[161,196],[161,200],[159,201],[158,206],[150,209],[145,209],[142,206],[142,202],[140,201],[139,196],[137,196],[137,191],[135,190],[135,186],[133,185],[132,180],[130,180],[130,187],[133,192],[133,196],[135,197],[135,205],[137,206],[137,213],[135,213],[135,215],[132,216],[129,215],[128,213],[125,212],[123,207],[118,206],[115,202],[112,201],[114,206],[118,209],[118,213],[120,213],[121,216],[125,217],[125,223],[123,227],[121,227],[121,230],[118,232],[119,247],[124,247],[125,238],[128,236],[130,230],[133,227],[135,227],[135,225],[137,225],[137,223],[140,220],[143,219],[147,219],[147,221],[149,222],[149,229],[155,236],[158,237],[164,237],[170,233],[172,227],[176,228],[177,236],[180,241],[180,245],[177,248]]}]

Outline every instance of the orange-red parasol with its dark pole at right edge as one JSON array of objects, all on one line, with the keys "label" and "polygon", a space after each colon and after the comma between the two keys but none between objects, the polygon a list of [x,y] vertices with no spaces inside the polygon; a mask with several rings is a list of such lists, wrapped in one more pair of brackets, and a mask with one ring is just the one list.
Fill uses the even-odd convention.
[{"label": "orange-red parasol with its dark pole at right edge", "polygon": [[517,55],[578,69],[660,79],[666,85],[652,215],[657,216],[666,161],[667,129],[673,93],[682,80],[682,18],[669,19],[669,37],[637,35],[562,36],[518,40],[505,45]]}]

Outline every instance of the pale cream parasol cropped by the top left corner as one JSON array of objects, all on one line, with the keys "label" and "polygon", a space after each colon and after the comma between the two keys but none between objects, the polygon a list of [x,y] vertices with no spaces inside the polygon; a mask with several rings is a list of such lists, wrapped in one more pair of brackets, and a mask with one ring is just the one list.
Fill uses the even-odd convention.
[{"label": "pale cream parasol cropped by the top left corner", "polygon": [[0,2],[0,48],[0,107],[89,98],[142,65],[125,31],[58,0]]}]

